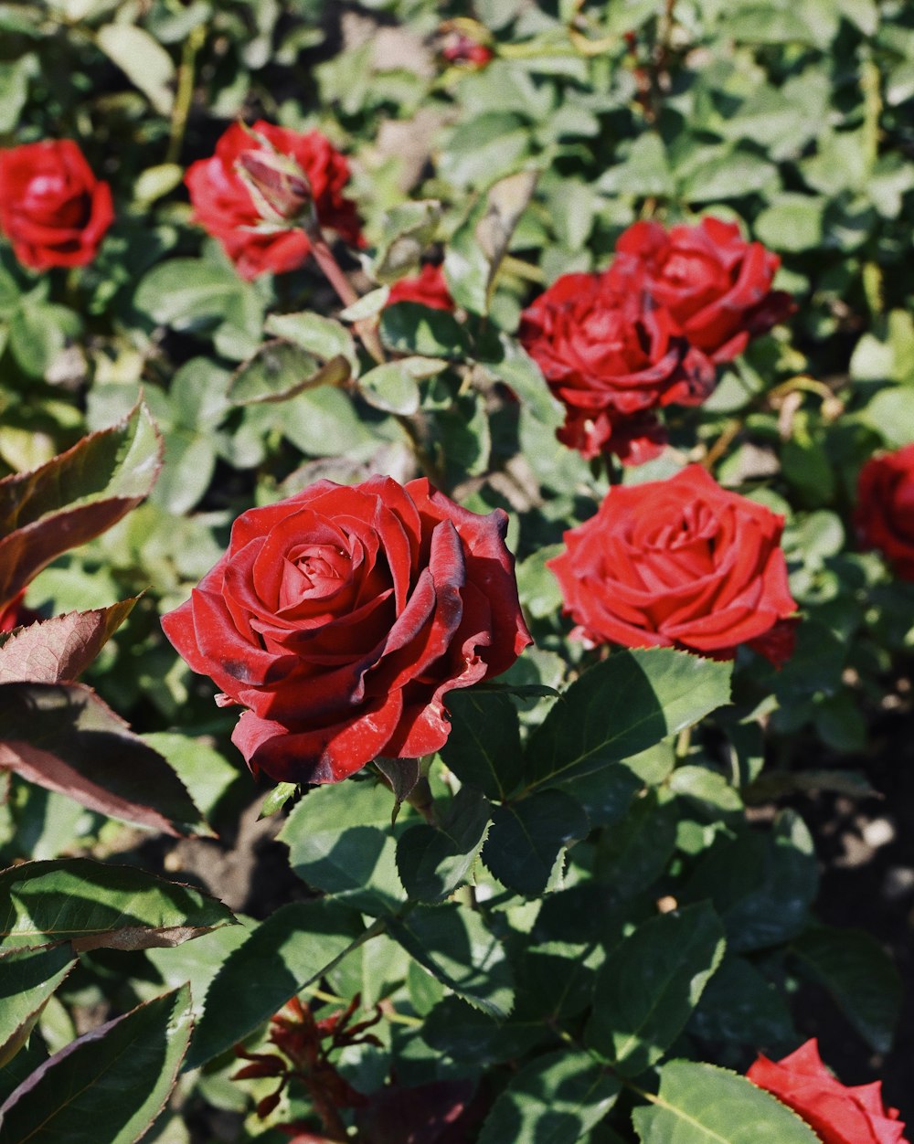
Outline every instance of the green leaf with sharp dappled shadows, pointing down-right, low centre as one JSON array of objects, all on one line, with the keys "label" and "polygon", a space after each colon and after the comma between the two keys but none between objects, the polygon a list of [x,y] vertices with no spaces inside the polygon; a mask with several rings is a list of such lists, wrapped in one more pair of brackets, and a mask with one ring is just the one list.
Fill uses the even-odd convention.
[{"label": "green leaf with sharp dappled shadows, pointing down-right, low centre", "polygon": [[418,906],[391,919],[390,936],[471,1006],[498,1019],[514,1004],[511,969],[498,938],[479,914],[458,905]]}]

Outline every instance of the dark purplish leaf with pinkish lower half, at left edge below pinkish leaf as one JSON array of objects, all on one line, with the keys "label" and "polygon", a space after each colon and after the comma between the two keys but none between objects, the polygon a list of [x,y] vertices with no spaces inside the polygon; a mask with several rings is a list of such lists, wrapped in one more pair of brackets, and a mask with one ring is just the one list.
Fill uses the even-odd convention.
[{"label": "dark purplish leaf with pinkish lower half, at left edge below pinkish leaf", "polygon": [[0,683],[0,768],[90,810],[166,834],[206,834],[181,779],[80,683]]}]

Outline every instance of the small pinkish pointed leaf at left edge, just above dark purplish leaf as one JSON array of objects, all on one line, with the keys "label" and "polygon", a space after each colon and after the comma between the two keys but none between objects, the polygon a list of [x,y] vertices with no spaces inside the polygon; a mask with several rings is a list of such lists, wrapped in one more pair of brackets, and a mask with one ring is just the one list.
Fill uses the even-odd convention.
[{"label": "small pinkish pointed leaf at left edge, just above dark purplish leaf", "polygon": [[140,597],[67,612],[0,633],[0,683],[70,683],[95,659]]}]

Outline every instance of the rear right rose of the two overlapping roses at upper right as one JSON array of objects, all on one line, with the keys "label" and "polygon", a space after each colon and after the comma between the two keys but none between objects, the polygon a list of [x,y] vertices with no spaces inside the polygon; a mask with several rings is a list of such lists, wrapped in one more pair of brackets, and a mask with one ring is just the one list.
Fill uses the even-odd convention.
[{"label": "rear right rose of the two overlapping roses at upper right", "polygon": [[779,265],[777,254],[744,241],[732,222],[702,219],[668,232],[636,222],[615,244],[610,275],[620,287],[646,288],[677,333],[715,362],[730,362],[796,309],[789,294],[771,289]]}]

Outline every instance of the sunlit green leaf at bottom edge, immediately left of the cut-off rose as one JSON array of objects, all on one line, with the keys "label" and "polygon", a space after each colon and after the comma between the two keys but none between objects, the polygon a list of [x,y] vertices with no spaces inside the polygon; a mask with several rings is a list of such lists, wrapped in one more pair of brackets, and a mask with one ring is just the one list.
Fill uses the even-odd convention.
[{"label": "sunlit green leaf at bottom edge, immediately left of the cut-off rose", "polygon": [[660,1093],[631,1114],[642,1144],[818,1144],[787,1105],[745,1077],[692,1060],[660,1070]]}]

